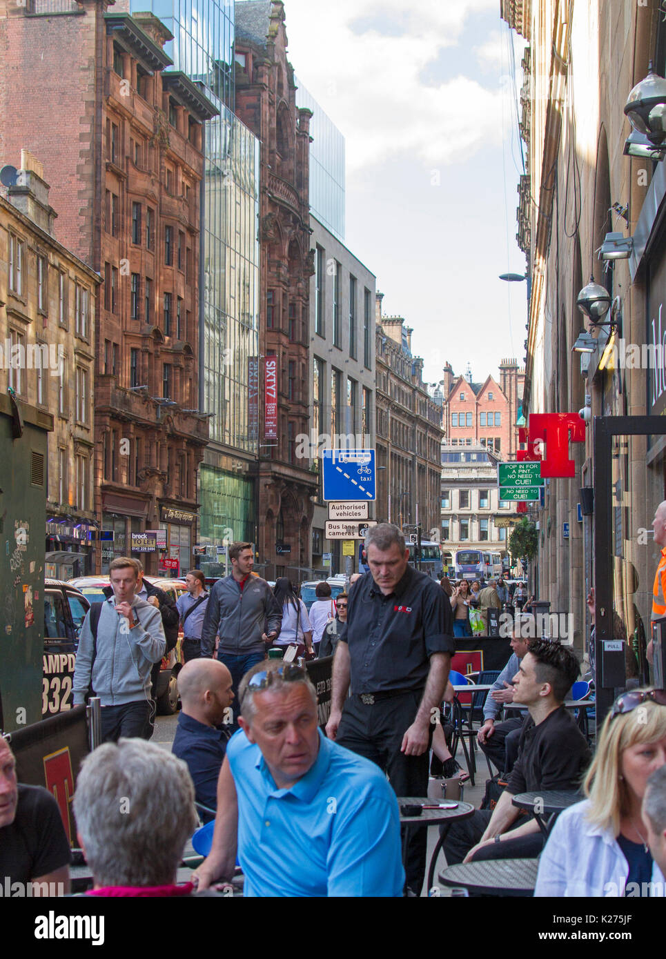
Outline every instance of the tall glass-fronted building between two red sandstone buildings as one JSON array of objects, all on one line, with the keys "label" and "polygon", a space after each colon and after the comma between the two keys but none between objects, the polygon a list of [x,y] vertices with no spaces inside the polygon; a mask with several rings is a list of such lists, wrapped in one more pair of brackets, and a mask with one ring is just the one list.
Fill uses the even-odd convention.
[{"label": "tall glass-fronted building between two red sandstone buildings", "polygon": [[205,123],[199,331],[199,408],[214,414],[199,469],[199,545],[210,550],[200,566],[215,574],[223,539],[256,536],[259,141],[233,113],[233,0],[131,0],[132,13],[146,10],[174,35],[173,69],[220,110]]}]

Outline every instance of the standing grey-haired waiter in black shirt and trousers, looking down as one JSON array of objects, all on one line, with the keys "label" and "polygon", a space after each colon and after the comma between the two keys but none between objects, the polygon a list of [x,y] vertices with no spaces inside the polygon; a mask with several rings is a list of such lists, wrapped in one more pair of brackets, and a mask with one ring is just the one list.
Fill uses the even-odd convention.
[{"label": "standing grey-haired waiter in black shirt and trousers, looking down", "polygon": [[[428,750],[455,651],[451,604],[434,579],[409,566],[397,526],[373,526],[366,551],[370,572],[349,592],[333,662],[326,735],[376,762],[397,796],[426,796]],[[416,896],[426,844],[427,830],[413,830],[405,872]]]}]

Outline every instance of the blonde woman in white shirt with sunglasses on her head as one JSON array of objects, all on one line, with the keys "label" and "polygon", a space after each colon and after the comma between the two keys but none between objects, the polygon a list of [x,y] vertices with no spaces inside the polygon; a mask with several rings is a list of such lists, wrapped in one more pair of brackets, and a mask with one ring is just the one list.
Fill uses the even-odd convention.
[{"label": "blonde woman in white shirt with sunglasses on her head", "polygon": [[650,776],[666,764],[666,692],[615,700],[585,778],[587,799],[560,813],[539,860],[535,896],[664,896],[641,819]]}]

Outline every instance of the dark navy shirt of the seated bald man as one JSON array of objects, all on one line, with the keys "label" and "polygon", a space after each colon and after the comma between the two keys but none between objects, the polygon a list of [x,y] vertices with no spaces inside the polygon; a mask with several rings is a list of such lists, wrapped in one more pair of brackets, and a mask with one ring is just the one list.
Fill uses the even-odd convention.
[{"label": "dark navy shirt of the seated bald man", "polygon": [[[225,760],[226,729],[206,726],[186,713],[178,713],[178,727],[171,751],[187,763],[195,788],[195,800],[209,809],[217,808],[220,767]],[[214,818],[199,810],[204,823]]]}]

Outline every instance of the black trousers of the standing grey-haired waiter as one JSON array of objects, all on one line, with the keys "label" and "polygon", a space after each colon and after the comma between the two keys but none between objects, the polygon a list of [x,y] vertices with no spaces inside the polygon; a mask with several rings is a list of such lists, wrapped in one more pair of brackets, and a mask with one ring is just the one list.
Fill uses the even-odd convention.
[{"label": "black trousers of the standing grey-haired waiter", "polygon": [[[359,756],[376,762],[389,777],[396,796],[428,795],[429,750],[421,756],[400,752],[402,738],[416,718],[423,690],[404,692],[366,706],[360,696],[345,701],[335,741]],[[432,726],[430,739],[432,740]],[[428,744],[430,745],[430,743]],[[420,894],[425,876],[428,830],[410,830],[405,862],[406,884]]]}]

